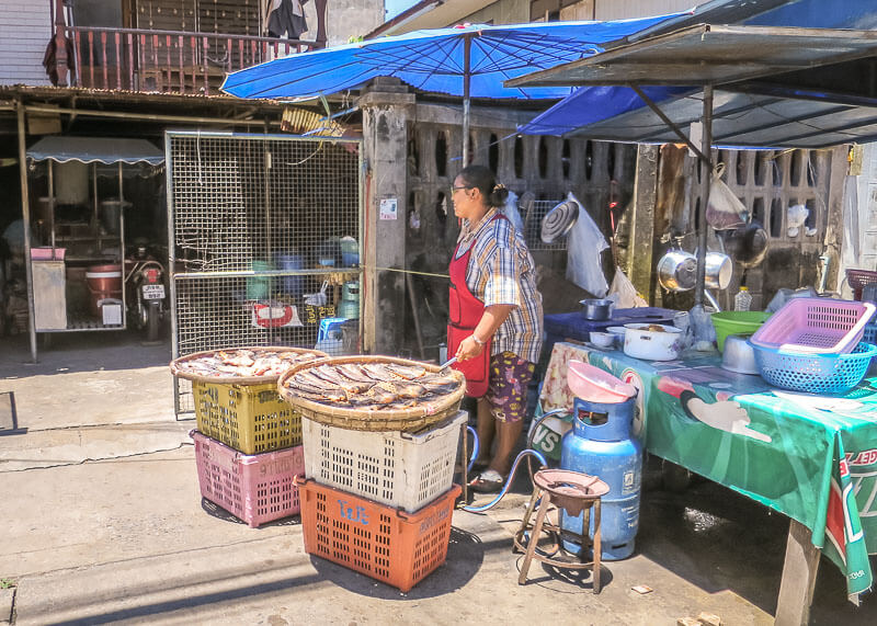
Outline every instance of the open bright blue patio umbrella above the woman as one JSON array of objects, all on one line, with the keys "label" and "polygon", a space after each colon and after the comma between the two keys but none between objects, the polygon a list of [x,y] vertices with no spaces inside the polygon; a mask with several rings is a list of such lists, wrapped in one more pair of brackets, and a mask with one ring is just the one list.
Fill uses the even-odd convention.
[{"label": "open bright blue patio umbrella above the woman", "polygon": [[388,76],[424,91],[462,95],[463,155],[468,162],[470,98],[563,98],[570,88],[506,88],[502,83],[603,52],[608,42],[682,14],[415,31],[253,66],[228,75],[223,91],[238,98],[308,99]]}]

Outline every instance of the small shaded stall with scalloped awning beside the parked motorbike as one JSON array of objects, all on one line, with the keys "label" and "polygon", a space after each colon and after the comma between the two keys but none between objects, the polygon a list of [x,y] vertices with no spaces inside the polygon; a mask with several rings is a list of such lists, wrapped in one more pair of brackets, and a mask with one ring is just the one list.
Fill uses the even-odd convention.
[{"label": "small shaded stall with scalloped awning beside the parked motorbike", "polygon": [[26,156],[46,185],[25,214],[36,332],[125,329],[125,175],[155,173],[164,155],[144,139],[45,137]]}]

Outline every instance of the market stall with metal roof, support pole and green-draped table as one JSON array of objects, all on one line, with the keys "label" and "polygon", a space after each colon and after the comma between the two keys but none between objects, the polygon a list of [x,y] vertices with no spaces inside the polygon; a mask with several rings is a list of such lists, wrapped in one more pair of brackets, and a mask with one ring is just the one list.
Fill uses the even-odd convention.
[{"label": "market stall with metal roof, support pole and green-draped table", "polygon": [[[874,53],[868,31],[698,24],[638,34],[605,53],[505,86],[594,90],[581,90],[543,114],[534,121],[543,128],[534,133],[545,133],[546,124],[566,124],[549,134],[647,144],[681,140],[696,156],[696,171],[709,172],[717,145],[794,148],[872,140],[877,121],[873,93],[861,82],[843,93],[830,86],[840,76],[854,76]],[[661,89],[672,86],[690,91]],[[613,89],[597,91],[606,87]],[[594,94],[602,103],[612,98],[612,105],[595,113],[584,104]],[[694,330],[701,340],[711,330],[703,323],[711,179],[699,175],[694,223],[692,321],[698,322]],[[777,622],[807,623],[820,548],[842,566],[852,601],[870,587],[868,532],[862,520],[873,498],[866,496],[864,476],[856,475],[857,480],[851,473],[853,462],[869,458],[875,443],[870,384],[841,398],[817,395],[832,389],[789,395],[776,391],[775,382],[771,388],[755,379],[753,387],[745,375],[718,368],[715,356],[694,362],[683,356],[660,367],[615,352],[597,357],[584,350],[580,356],[639,383],[642,435],[650,452],[791,517]],[[566,376],[563,368],[554,363],[549,378]],[[550,389],[549,380],[546,386]]]}]

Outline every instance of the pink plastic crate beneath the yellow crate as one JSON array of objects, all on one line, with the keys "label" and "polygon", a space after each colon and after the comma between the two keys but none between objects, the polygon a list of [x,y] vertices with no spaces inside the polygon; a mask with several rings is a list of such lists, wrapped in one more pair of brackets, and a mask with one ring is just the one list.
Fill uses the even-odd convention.
[{"label": "pink plastic crate beneath the yellow crate", "polygon": [[299,512],[295,477],[305,475],[303,446],[246,455],[197,431],[189,434],[204,498],[253,528]]}]

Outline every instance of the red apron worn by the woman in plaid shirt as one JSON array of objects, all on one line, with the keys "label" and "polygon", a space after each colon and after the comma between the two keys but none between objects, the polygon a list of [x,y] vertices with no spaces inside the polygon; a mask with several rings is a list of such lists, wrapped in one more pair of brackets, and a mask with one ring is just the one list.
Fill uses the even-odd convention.
[{"label": "red apron worn by the woman in plaid shirt", "polygon": [[[502,214],[498,213],[491,220],[499,217],[504,218]],[[451,289],[447,303],[448,319],[451,321],[447,325],[448,356],[457,353],[460,342],[472,334],[475,327],[478,326],[485,315],[485,303],[475,297],[466,285],[466,269],[469,266],[469,257],[474,247],[475,242],[463,257],[457,259],[457,248],[459,248],[457,246],[454,249],[454,255],[451,258],[451,265],[448,266],[448,274],[451,274]],[[488,339],[485,341],[483,349],[478,356],[452,365],[454,369],[463,372],[463,375],[466,376],[466,395],[472,398],[480,398],[487,392],[491,343],[492,339]]]}]

